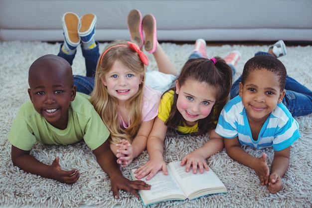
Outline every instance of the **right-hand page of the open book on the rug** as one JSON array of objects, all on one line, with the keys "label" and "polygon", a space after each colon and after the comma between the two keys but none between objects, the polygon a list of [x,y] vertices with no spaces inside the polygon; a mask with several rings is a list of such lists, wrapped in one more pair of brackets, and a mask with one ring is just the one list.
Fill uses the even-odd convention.
[{"label": "right-hand page of the open book on the rug", "polygon": [[181,167],[179,161],[171,162],[168,166],[181,189],[190,200],[207,194],[227,192],[224,184],[210,168],[209,171],[204,170],[202,174],[199,173],[198,169],[197,173],[193,174],[192,170],[186,172],[185,166]]}]

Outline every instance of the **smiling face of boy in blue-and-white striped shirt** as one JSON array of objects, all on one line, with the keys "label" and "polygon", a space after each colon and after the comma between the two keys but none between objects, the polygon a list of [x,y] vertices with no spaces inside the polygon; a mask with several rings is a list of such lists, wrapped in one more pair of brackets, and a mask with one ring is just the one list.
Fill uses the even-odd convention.
[{"label": "smiling face of boy in blue-and-white striped shirt", "polygon": [[284,94],[278,76],[266,69],[250,72],[244,86],[242,83],[239,85],[239,95],[249,120],[264,122],[277,104],[282,102]]}]

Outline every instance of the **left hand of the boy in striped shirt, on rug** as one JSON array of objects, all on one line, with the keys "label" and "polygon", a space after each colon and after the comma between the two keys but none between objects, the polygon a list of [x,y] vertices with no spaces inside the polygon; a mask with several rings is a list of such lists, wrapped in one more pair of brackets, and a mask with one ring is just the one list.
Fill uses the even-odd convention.
[{"label": "left hand of the boy in striped shirt, on rug", "polygon": [[267,164],[267,154],[262,153],[261,158],[256,159],[253,169],[258,175],[261,185],[267,185],[269,183],[270,170]]}]

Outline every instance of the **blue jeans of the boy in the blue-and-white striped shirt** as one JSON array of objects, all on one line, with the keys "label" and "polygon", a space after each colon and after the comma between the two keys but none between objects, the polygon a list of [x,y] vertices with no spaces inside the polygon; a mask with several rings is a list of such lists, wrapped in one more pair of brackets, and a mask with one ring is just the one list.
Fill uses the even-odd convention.
[{"label": "blue jeans of the boy in the blue-and-white striped shirt", "polygon": [[[271,55],[267,52],[259,51],[257,55]],[[232,85],[230,96],[231,99],[238,95],[239,83],[242,80],[240,76]],[[295,79],[286,76],[285,83],[285,96],[283,98],[283,104],[288,108],[294,117],[304,116],[312,113],[312,91],[303,86]]]}]

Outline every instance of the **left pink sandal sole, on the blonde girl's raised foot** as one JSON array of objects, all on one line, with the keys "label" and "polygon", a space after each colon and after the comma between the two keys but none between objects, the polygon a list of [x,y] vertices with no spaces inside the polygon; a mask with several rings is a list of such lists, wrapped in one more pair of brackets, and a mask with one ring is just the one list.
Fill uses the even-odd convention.
[{"label": "left pink sandal sole, on the blonde girl's raised foot", "polygon": [[136,41],[140,48],[143,46],[142,15],[138,9],[132,9],[127,16],[127,25],[131,40]]}]

